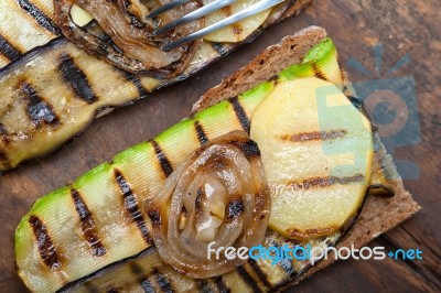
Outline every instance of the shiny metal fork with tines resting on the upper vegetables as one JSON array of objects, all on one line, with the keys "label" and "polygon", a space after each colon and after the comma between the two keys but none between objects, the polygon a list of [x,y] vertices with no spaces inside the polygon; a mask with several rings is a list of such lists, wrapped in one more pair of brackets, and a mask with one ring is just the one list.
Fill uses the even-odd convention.
[{"label": "shiny metal fork with tines resting on the upper vegetables", "polygon": [[[148,18],[158,17],[159,14],[161,14],[161,13],[163,13],[165,11],[169,11],[169,10],[175,8],[175,7],[182,6],[182,4],[184,4],[184,3],[189,2],[189,1],[191,1],[191,0],[174,0],[174,1],[171,1],[171,2],[169,2],[166,4],[164,4],[163,7],[157,9],[157,10],[153,10],[148,15]],[[226,7],[226,6],[229,6],[230,3],[236,2],[236,1],[237,0],[215,0],[215,1],[211,2],[209,4],[206,4],[206,6],[197,9],[197,10],[184,15],[181,19],[178,19],[175,21],[172,21],[172,22],[159,28],[158,30],[154,31],[154,34],[158,35],[158,34],[162,34],[164,32],[168,32],[170,30],[173,30],[179,25],[182,25],[182,24],[189,23],[191,21],[194,21],[196,19],[200,19],[200,18],[202,18],[204,15],[207,15],[207,14],[209,14],[209,13],[216,11],[216,10],[219,10],[219,9]],[[206,35],[206,34],[209,34],[209,33],[212,33],[214,31],[220,30],[222,28],[225,28],[225,26],[228,26],[228,25],[230,25],[233,23],[236,23],[236,22],[238,22],[238,21],[240,21],[243,19],[246,19],[248,17],[257,14],[257,13],[259,13],[259,12],[261,12],[263,10],[267,10],[267,9],[269,9],[271,7],[275,7],[275,6],[277,6],[277,4],[279,4],[279,3],[283,2],[283,1],[284,0],[260,0],[259,2],[257,2],[257,3],[255,3],[255,4],[250,6],[250,7],[241,10],[240,12],[237,12],[236,14],[233,14],[233,15],[226,18],[226,19],[223,19],[222,21],[219,21],[217,23],[208,25],[208,26],[206,26],[204,29],[201,29],[201,30],[198,30],[196,32],[193,32],[193,33],[191,33],[189,35],[185,35],[185,36],[183,36],[181,39],[178,39],[178,40],[175,40],[175,41],[173,41],[171,43],[164,44],[161,48],[163,51],[169,51],[169,50],[178,47],[178,46],[180,46],[180,45],[182,45],[184,43],[194,41],[196,39],[201,39],[202,36]]]}]

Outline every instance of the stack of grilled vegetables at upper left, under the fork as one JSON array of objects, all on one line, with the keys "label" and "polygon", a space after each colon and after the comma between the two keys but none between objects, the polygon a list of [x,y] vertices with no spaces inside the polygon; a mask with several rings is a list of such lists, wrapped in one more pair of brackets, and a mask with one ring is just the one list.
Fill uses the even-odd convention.
[{"label": "stack of grilled vegetables at upper left, under the fork", "polygon": [[[280,20],[295,1],[251,17],[237,24],[239,29],[227,28],[237,34],[225,34],[222,40],[209,35],[169,53],[158,46],[200,24],[184,25],[171,35],[153,36],[152,30],[197,8],[200,1],[155,21],[146,20],[146,14],[168,0],[3,2],[0,173],[60,148],[106,109],[187,78]],[[237,1],[228,13],[252,2]],[[206,21],[224,18],[225,11]],[[62,32],[69,41],[57,37]]]}]

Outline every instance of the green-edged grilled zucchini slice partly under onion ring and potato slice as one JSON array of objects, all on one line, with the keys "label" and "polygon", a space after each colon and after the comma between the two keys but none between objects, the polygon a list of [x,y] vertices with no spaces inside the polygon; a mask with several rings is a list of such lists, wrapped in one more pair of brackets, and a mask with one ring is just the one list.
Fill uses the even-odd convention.
[{"label": "green-edged grilled zucchini slice partly under onion ring and potato slice", "polygon": [[[323,44],[314,59],[293,65],[278,78],[196,112],[153,140],[90,170],[72,185],[39,199],[15,230],[18,273],[28,287],[53,292],[151,247],[146,199],[204,142],[233,130],[249,132],[254,110],[287,73],[291,79],[305,72],[314,75],[314,67],[333,68],[340,74],[332,41],[325,39],[320,45]],[[326,76],[326,72],[321,74]]]}]

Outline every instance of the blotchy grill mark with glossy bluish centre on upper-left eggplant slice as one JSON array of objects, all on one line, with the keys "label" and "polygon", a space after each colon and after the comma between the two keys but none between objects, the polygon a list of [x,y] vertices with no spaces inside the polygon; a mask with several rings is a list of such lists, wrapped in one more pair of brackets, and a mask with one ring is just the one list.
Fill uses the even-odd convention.
[{"label": "blotchy grill mark with glossy bluish centre on upper-left eggplant slice", "polygon": [[51,127],[57,127],[60,124],[60,119],[54,112],[52,105],[44,101],[30,84],[23,83],[21,86],[21,93],[28,100],[26,113],[35,126],[39,126],[42,122],[45,122]]}]

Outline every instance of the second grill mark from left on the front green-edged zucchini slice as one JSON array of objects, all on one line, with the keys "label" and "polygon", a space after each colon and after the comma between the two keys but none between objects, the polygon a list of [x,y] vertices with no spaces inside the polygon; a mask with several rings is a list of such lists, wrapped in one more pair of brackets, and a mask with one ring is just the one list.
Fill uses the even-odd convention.
[{"label": "second grill mark from left on the front green-edged zucchini slice", "polygon": [[72,188],[71,196],[74,200],[75,209],[79,217],[83,237],[86,239],[92,253],[95,257],[105,256],[107,253],[107,250],[104,247],[101,239],[99,238],[98,231],[96,229],[96,221],[92,216],[86,203],[84,202],[77,189]]}]

